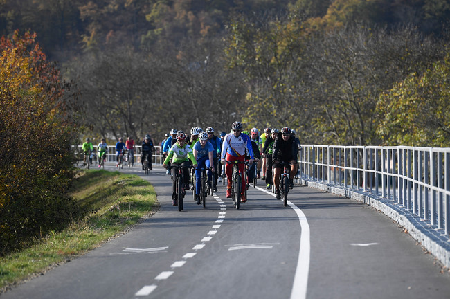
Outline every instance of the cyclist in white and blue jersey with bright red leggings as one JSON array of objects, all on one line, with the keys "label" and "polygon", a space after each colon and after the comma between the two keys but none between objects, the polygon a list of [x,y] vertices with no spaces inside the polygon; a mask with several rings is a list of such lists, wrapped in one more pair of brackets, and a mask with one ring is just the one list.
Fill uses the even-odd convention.
[{"label": "cyclist in white and blue jersey with bright red leggings", "polygon": [[[248,149],[250,160],[249,163],[253,163],[254,157],[253,157],[253,149],[251,146],[251,141],[249,136],[246,136],[246,134],[242,134],[242,123],[240,122],[234,122],[233,125],[231,125],[232,132],[229,134],[226,134],[224,138],[224,144],[222,145],[222,164],[225,163],[225,161],[235,162],[240,161],[244,162],[245,158],[245,149]],[[239,163],[239,171],[243,174],[244,173],[244,163]],[[232,164],[226,164],[225,165],[225,172],[226,177],[228,179],[228,185],[226,188],[226,198],[231,198],[231,176],[233,175],[233,165]],[[242,195],[241,195],[241,201],[246,202],[245,198],[245,188],[246,188],[246,182],[242,180]]]}]

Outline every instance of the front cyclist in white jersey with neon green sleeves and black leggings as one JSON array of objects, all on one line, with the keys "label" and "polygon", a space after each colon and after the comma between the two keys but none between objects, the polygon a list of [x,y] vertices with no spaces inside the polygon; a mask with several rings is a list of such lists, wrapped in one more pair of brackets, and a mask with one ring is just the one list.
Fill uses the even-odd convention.
[{"label": "front cyclist in white jersey with neon green sleeves and black leggings", "polygon": [[[172,157],[172,164],[183,166],[184,185],[187,188],[189,185],[189,166],[193,165],[194,167],[197,167],[197,161],[195,161],[194,154],[192,154],[192,149],[186,143],[186,134],[184,134],[183,131],[177,132],[177,142],[170,147],[168,156],[163,163],[164,168],[168,168],[168,163]],[[174,179],[176,172],[176,169],[172,169],[172,206],[177,206],[178,204],[176,192],[177,181]]]}]

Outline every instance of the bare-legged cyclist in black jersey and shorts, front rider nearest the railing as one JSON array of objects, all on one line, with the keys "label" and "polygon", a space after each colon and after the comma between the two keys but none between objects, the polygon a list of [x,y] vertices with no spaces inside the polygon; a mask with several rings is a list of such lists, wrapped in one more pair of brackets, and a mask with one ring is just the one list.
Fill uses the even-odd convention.
[{"label": "bare-legged cyclist in black jersey and shorts, front rider nearest the railing", "polygon": [[280,175],[282,171],[282,162],[292,163],[291,172],[289,174],[289,187],[294,188],[294,176],[297,172],[297,143],[294,136],[291,135],[291,129],[284,127],[273,144],[273,183],[276,188],[276,198],[281,199],[280,194]]}]

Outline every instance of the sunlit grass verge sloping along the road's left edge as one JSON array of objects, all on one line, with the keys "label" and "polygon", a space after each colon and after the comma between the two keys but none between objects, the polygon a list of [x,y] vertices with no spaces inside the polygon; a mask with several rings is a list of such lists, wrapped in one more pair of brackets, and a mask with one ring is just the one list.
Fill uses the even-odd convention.
[{"label": "sunlit grass verge sloping along the road's left edge", "polygon": [[0,293],[125,233],[158,208],[150,183],[120,172],[83,171],[71,195],[85,216],[29,248],[0,257]]}]

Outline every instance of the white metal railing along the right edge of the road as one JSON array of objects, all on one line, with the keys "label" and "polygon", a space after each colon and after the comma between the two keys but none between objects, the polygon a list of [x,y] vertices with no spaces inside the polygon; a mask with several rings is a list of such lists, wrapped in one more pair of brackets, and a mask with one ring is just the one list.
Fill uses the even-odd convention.
[{"label": "white metal railing along the right edge of the road", "polygon": [[303,145],[300,176],[397,203],[450,234],[450,148]]}]

